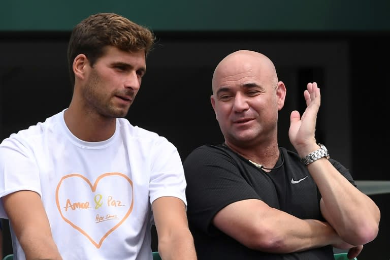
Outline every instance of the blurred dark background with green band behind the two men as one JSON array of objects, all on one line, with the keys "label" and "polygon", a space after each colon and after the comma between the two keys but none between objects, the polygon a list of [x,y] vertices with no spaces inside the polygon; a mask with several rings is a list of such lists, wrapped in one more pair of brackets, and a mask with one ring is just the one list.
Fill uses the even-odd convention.
[{"label": "blurred dark background with green band behind the two men", "polygon": [[[274,61],[287,87],[280,146],[292,148],[289,113],[304,110],[303,90],[316,81],[322,95],[317,140],[355,180],[389,180],[383,161],[389,145],[389,11],[387,0],[2,3],[0,138],[69,105],[70,31],[90,14],[115,12],[157,37],[127,118],[167,137],[182,159],[200,145],[223,141],[210,105],[211,77],[225,55],[250,49]],[[389,259],[390,194],[370,197],[381,209],[380,230],[359,260]],[[12,253],[7,225],[3,220],[4,255]]]}]

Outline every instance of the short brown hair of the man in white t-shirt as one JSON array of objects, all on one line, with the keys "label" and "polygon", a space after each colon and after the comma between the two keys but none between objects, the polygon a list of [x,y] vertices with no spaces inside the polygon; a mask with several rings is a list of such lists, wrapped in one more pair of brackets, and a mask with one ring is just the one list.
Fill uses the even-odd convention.
[{"label": "short brown hair of the man in white t-shirt", "polygon": [[98,13],[87,17],[72,31],[68,45],[68,66],[71,83],[75,83],[73,61],[80,53],[87,56],[90,66],[104,55],[106,46],[123,51],[151,50],[155,37],[153,32],[125,17],[114,13]]}]

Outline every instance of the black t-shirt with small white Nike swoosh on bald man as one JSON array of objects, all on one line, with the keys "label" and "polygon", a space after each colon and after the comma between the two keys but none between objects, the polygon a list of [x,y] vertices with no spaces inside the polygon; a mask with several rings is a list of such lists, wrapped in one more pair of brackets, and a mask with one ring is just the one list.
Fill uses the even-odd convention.
[{"label": "black t-shirt with small white Nike swoosh on bald man", "polygon": [[[282,147],[279,150],[275,166],[282,166],[269,173],[222,145],[201,146],[184,160],[187,216],[198,259],[334,259],[332,246],[289,254],[252,250],[213,225],[218,211],[247,199],[262,200],[301,219],[324,221],[319,207],[321,194],[299,155]],[[354,185],[349,171],[337,161],[330,161]]]}]

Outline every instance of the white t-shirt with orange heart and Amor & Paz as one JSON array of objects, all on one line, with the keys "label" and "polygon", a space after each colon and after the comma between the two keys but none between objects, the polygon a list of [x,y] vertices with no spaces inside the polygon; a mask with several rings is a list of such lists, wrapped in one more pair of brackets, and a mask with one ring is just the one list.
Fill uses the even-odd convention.
[{"label": "white t-shirt with orange heart and Amor & Paz", "polygon": [[[0,198],[40,194],[64,260],[152,259],[151,203],[171,196],[186,205],[176,147],[123,118],[110,139],[85,142],[63,112],[0,144]],[[0,217],[8,218],[1,200]],[[15,259],[25,259],[12,226],[11,237]]]}]

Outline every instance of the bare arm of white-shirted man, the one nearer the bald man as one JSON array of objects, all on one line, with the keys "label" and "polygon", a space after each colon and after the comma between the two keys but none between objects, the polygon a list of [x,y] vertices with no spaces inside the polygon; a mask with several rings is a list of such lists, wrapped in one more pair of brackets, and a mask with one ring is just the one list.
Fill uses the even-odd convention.
[{"label": "bare arm of white-shirted man, the one nearer the bald man", "polygon": [[161,197],[152,203],[152,210],[161,258],[196,260],[183,201],[174,197]]}]

